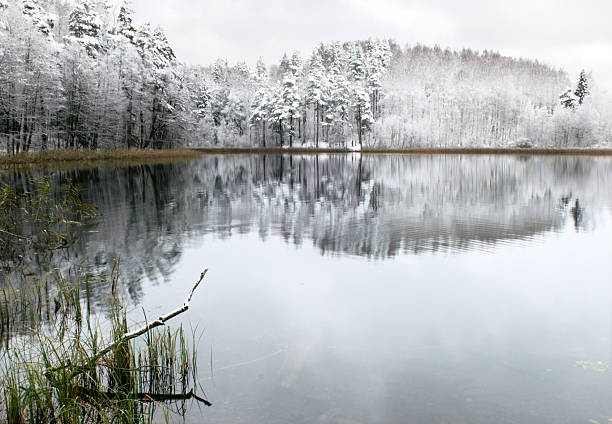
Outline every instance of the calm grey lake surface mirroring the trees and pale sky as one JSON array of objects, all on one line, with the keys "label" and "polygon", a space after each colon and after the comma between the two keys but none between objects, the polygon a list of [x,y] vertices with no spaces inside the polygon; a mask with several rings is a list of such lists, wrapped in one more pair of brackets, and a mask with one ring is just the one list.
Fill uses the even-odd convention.
[{"label": "calm grey lake surface mirroring the trees and pale sky", "polygon": [[[612,160],[210,156],[58,173],[132,306],[203,330],[188,422],[612,421]],[[13,178],[20,178],[14,176]],[[212,366],[210,358],[212,357]]]}]

